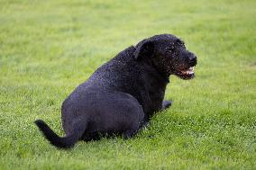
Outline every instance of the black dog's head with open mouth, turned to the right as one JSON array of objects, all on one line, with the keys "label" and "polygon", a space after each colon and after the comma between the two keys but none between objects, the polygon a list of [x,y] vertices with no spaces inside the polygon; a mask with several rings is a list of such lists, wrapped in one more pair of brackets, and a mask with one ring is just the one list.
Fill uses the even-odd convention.
[{"label": "black dog's head with open mouth, turned to the right", "polygon": [[155,35],[136,45],[134,58],[156,67],[164,76],[176,75],[182,79],[195,76],[197,56],[188,51],[182,40],[171,34]]}]

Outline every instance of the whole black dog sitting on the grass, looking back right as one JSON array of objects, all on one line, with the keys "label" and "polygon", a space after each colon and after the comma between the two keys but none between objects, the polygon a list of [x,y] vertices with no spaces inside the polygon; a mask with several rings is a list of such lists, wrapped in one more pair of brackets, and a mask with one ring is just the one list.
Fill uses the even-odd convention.
[{"label": "whole black dog sitting on the grass, looking back right", "polygon": [[155,35],[117,54],[99,67],[64,101],[61,118],[66,137],[60,138],[44,121],[35,121],[58,148],[78,139],[133,137],[154,114],[171,104],[163,101],[169,76],[193,78],[197,57],[171,34]]}]

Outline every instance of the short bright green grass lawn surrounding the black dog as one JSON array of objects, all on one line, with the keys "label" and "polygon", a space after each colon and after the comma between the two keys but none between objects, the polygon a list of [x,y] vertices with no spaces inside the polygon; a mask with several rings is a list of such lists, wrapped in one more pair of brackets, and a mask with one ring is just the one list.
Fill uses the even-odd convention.
[{"label": "short bright green grass lawn surrounding the black dog", "polygon": [[[0,1],[0,169],[256,169],[256,1]],[[50,146],[60,106],[124,48],[172,33],[198,56],[133,139]]]}]

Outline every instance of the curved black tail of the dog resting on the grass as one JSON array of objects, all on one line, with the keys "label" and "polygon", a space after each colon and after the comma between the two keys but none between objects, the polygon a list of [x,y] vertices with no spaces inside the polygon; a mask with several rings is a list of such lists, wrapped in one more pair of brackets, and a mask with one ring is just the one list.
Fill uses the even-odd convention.
[{"label": "curved black tail of the dog resting on the grass", "polygon": [[66,137],[59,137],[50,127],[41,120],[34,121],[34,123],[41,130],[42,134],[46,139],[50,141],[50,144],[57,148],[72,148],[75,143],[80,139],[85,131],[86,126],[84,128],[79,128],[74,130],[74,133],[67,135]]}]

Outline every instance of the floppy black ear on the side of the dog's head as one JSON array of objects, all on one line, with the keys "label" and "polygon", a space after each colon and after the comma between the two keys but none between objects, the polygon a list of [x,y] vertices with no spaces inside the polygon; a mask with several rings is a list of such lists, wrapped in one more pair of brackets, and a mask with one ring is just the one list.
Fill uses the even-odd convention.
[{"label": "floppy black ear on the side of the dog's head", "polygon": [[154,51],[154,45],[151,40],[142,40],[136,45],[134,51],[134,58],[151,57]]}]

